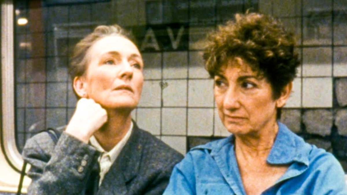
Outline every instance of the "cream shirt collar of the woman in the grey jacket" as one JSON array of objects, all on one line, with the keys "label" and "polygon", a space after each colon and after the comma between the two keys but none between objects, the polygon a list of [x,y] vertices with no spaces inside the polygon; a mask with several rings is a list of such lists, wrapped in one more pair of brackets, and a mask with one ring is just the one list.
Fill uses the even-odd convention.
[{"label": "cream shirt collar of the woman in the grey jacket", "polygon": [[111,163],[115,162],[115,160],[117,159],[120,151],[123,149],[124,145],[127,143],[132,130],[133,130],[133,121],[130,124],[130,128],[128,130],[128,132],[125,134],[125,136],[120,140],[120,142],[118,142],[115,147],[113,147],[109,152],[106,152],[100,145],[100,143],[98,142],[98,140],[96,140],[96,138],[94,137],[94,135],[92,137],[90,137],[89,141],[91,143],[92,146],[94,146],[98,151],[100,151],[103,156],[108,155],[110,157]]}]

